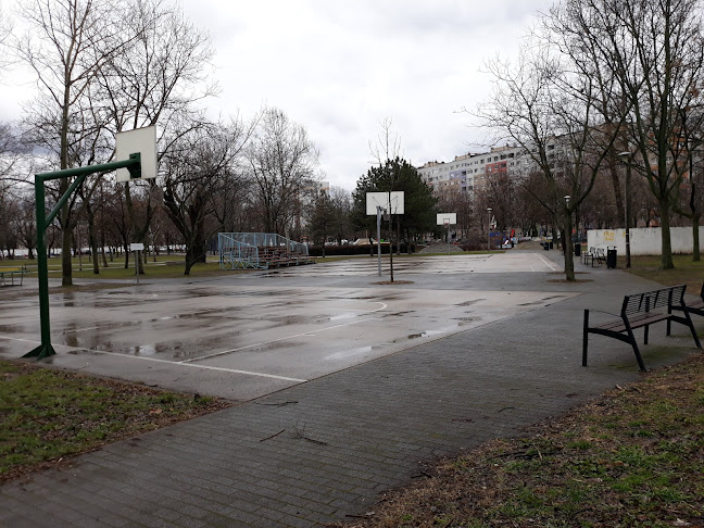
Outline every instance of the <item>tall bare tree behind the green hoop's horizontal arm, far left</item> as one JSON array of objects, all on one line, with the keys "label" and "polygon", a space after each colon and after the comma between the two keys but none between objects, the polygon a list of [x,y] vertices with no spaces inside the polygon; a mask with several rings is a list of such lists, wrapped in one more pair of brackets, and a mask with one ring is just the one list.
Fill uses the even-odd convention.
[{"label": "tall bare tree behind the green hoop's horizontal arm, far left", "polygon": [[[81,158],[90,162],[102,134],[102,123],[90,112],[90,88],[101,68],[134,40],[129,17],[108,0],[27,0],[21,3],[20,14],[29,28],[15,42],[15,50],[34,70],[39,88],[25,123],[56,154],[50,166],[71,168]],[[60,179],[59,196],[70,185],[70,178]],[[60,215],[64,286],[72,284],[75,203],[68,201]]]}]

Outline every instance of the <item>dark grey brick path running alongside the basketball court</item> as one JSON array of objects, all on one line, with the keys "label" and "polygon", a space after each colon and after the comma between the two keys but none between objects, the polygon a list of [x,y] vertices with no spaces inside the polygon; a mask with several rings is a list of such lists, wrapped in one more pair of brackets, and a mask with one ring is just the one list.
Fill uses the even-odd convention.
[{"label": "dark grey brick path running alongside the basketball court", "polygon": [[592,278],[551,286],[526,274],[526,289],[532,280],[583,294],[5,483],[0,526],[309,527],[364,513],[419,463],[516,435],[638,378],[632,352],[615,340],[596,338],[591,366],[580,366],[581,314],[617,310],[619,296],[651,285],[613,271]]}]

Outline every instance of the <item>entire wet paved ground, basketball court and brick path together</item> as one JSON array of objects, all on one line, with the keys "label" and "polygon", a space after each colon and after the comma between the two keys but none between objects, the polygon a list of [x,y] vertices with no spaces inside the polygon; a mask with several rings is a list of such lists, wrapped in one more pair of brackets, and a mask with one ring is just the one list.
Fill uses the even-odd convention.
[{"label": "entire wet paved ground, basketball court and brick path together", "polygon": [[[0,525],[322,526],[364,514],[439,456],[638,379],[629,347],[598,336],[581,367],[582,312],[617,312],[654,285],[579,264],[588,281],[565,284],[560,260],[402,259],[398,285],[355,260],[52,296],[49,363],[240,404],[0,486]],[[0,356],[17,357],[38,338],[37,301],[0,298]],[[682,329],[664,334],[651,330],[650,367],[694,350]]]}]

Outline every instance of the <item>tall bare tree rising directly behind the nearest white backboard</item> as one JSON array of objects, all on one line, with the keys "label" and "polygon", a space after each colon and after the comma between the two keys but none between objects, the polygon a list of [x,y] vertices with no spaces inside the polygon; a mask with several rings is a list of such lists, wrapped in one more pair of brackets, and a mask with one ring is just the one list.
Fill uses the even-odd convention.
[{"label": "tall bare tree rising directly behind the nearest white backboard", "polygon": [[[98,97],[114,133],[159,125],[172,140],[202,125],[199,101],[216,93],[208,65],[214,50],[206,32],[187,21],[180,8],[163,0],[131,0],[137,38],[100,72]],[[169,146],[162,139],[162,154]],[[124,184],[135,242],[144,242],[156,211],[155,180]],[[137,211],[130,188],[146,199]],[[141,265],[139,266],[142,273]]]}]

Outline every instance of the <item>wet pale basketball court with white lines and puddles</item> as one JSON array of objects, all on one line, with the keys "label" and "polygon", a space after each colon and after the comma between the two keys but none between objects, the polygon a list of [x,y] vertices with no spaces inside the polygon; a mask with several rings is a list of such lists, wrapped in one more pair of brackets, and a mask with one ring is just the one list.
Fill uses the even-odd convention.
[{"label": "wet pale basketball court with white lines and puddles", "polygon": [[[365,256],[54,293],[56,354],[42,361],[243,401],[575,294],[505,289],[506,275],[557,271],[532,252],[394,259],[399,285],[384,284],[388,259],[382,277],[376,266]],[[39,307],[10,292],[22,290],[2,292],[0,356],[20,357],[39,342]]]}]

